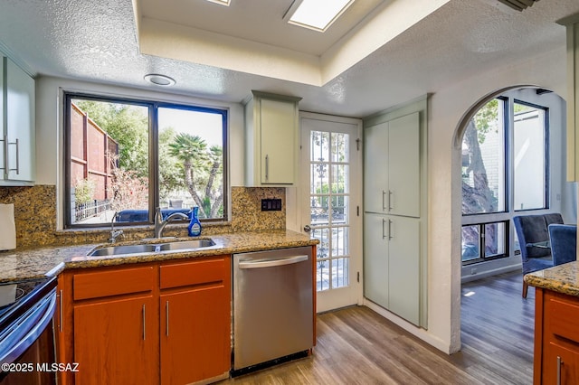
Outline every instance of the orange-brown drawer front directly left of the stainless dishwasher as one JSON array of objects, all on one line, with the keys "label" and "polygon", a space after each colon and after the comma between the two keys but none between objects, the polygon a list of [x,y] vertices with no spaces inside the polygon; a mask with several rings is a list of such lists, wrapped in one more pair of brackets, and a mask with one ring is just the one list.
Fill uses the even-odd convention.
[{"label": "orange-brown drawer front directly left of the stainless dishwasher", "polygon": [[162,289],[221,282],[229,277],[229,256],[163,265],[160,268]]}]

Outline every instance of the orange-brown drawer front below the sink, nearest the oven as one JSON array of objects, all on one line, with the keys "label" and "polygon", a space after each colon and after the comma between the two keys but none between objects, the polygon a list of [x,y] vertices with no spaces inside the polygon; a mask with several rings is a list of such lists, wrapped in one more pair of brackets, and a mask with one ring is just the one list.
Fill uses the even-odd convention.
[{"label": "orange-brown drawer front below the sink, nearest the oven", "polygon": [[153,267],[121,268],[95,273],[75,274],[72,278],[74,300],[142,293],[153,290]]}]

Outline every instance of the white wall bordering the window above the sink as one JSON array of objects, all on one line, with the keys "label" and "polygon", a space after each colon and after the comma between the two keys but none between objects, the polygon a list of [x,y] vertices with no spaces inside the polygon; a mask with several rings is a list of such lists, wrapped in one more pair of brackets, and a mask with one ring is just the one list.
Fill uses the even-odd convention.
[{"label": "white wall bordering the window above the sink", "polygon": [[118,98],[152,99],[196,106],[229,109],[230,185],[243,185],[243,108],[242,104],[192,98],[159,92],[156,89],[127,89],[79,80],[40,77],[36,80],[36,184],[57,186],[58,229],[62,229],[62,92],[77,91]]}]

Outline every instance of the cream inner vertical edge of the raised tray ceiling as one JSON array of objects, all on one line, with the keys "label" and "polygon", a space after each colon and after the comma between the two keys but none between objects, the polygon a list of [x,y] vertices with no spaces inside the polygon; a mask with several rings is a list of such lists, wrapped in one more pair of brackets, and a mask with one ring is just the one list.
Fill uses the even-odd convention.
[{"label": "cream inner vertical edge of the raised tray ceiling", "polygon": [[144,17],[133,0],[143,54],[321,87],[450,0],[384,2],[321,56]]}]

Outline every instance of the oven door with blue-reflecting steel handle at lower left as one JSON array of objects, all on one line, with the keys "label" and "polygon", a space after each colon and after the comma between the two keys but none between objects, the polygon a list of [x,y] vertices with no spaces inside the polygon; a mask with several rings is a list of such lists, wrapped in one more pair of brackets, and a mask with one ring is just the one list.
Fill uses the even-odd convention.
[{"label": "oven door with blue-reflecting steel handle at lower left", "polygon": [[52,316],[56,290],[43,296],[0,332],[0,384],[54,384]]}]

